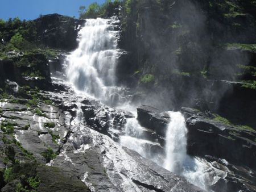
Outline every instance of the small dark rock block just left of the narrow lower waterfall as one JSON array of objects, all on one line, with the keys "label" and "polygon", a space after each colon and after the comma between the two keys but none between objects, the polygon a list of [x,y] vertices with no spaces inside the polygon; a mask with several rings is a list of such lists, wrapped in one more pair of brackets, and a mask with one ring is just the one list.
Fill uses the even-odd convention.
[{"label": "small dark rock block just left of the narrow lower waterfall", "polygon": [[137,108],[138,121],[143,127],[154,130],[158,135],[165,136],[170,123],[170,116],[157,108],[141,105]]}]

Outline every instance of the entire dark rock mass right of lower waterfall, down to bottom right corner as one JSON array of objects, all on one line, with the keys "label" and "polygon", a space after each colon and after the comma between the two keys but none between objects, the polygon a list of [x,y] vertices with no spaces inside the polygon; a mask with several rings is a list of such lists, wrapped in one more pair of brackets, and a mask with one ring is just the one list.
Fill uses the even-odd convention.
[{"label": "entire dark rock mass right of lower waterfall, down to bottom right corner", "polygon": [[[188,154],[205,158],[227,174],[213,189],[256,190],[256,132],[246,127],[220,122],[209,112],[185,107],[181,111],[186,117],[188,128]],[[223,189],[220,189],[221,186]]]}]

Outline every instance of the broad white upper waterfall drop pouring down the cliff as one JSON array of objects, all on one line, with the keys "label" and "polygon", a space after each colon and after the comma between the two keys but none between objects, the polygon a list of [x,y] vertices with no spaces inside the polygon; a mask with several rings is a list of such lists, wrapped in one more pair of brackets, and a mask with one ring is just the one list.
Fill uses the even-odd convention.
[{"label": "broad white upper waterfall drop pouring down the cliff", "polygon": [[68,81],[101,101],[111,101],[116,89],[117,23],[117,17],[86,19],[79,32],[79,47],[67,58]]}]

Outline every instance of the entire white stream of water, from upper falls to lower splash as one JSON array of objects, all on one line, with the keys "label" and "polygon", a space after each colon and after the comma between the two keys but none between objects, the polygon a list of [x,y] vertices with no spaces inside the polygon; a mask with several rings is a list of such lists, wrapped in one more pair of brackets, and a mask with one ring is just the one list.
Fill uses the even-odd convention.
[{"label": "entire white stream of water, from upper falls to lower splash", "polygon": [[[110,106],[117,101],[123,102],[122,88],[115,82],[119,52],[117,23],[115,17],[87,19],[79,32],[79,48],[68,56],[66,70],[68,81],[76,90]],[[136,115],[135,111],[132,112]],[[187,155],[185,119],[180,112],[170,111],[169,115],[171,122],[166,133],[164,155],[150,150],[152,145],[159,144],[144,137],[144,128],[137,118],[127,119],[125,135],[120,136],[119,143],[205,189],[204,163]]]}]

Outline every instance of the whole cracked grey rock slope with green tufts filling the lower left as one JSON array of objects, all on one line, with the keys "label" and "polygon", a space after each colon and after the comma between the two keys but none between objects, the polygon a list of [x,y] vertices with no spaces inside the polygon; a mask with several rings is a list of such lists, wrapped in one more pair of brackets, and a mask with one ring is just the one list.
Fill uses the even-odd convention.
[{"label": "whole cracked grey rock slope with green tufts filling the lower left", "polygon": [[[0,103],[0,137],[6,138],[0,142],[0,180],[6,167],[27,168],[32,158],[38,191],[203,191],[116,142],[133,114],[66,90],[38,93],[38,99],[59,106],[40,99],[37,108],[9,99]],[[10,152],[9,145],[14,145]],[[3,161],[6,156],[9,164]],[[22,174],[5,180],[1,190],[23,185]]]}]

